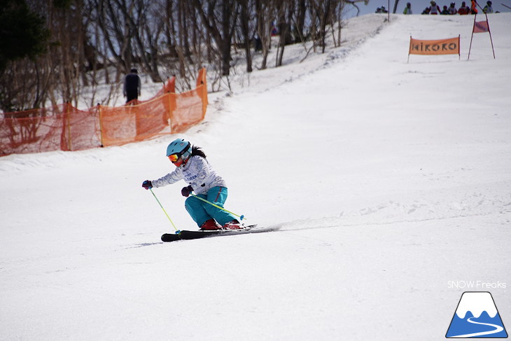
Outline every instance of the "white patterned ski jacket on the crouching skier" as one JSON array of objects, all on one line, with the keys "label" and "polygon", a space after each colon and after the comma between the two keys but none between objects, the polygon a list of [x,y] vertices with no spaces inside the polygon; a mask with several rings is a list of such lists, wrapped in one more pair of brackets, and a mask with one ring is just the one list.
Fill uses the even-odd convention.
[{"label": "white patterned ski jacket on the crouching skier", "polygon": [[184,167],[178,167],[158,180],[153,180],[153,187],[167,186],[179,180],[186,181],[192,186],[195,194],[206,194],[213,187],[227,187],[221,176],[216,174],[209,162],[201,156],[195,155],[186,162]]}]

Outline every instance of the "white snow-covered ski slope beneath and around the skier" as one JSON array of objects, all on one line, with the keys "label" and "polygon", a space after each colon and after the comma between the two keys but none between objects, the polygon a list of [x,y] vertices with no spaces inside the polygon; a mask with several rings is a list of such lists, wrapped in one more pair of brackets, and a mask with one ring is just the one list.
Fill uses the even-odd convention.
[{"label": "white snow-covered ski slope beneath and around the skier", "polygon": [[[510,328],[511,16],[489,17],[496,60],[477,34],[467,61],[473,17],[365,15],[211,95],[180,137],[278,232],[162,244],[141,182],[172,136],[0,158],[0,340],[442,340],[463,291]],[[461,60],[407,64],[410,35],[458,34]],[[193,228],[182,186],[155,194]]]}]

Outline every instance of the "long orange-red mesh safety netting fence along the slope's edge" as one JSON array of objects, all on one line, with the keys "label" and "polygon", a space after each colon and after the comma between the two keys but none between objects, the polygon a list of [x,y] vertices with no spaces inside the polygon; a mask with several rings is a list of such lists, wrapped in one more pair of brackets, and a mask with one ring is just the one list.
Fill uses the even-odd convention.
[{"label": "long orange-red mesh safety netting fence along the slope's edge", "polygon": [[43,151],[78,151],[119,146],[159,134],[182,132],[204,119],[205,69],[195,90],[176,94],[174,78],[157,96],[133,105],[96,106],[80,111],[70,104],[0,114],[0,156]]}]

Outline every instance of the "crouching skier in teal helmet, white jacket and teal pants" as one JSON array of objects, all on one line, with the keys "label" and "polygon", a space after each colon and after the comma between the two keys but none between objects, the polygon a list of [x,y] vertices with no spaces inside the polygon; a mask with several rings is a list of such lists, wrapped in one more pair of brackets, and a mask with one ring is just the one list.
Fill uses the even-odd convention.
[{"label": "crouching skier in teal helmet, white jacket and teal pants", "polygon": [[[184,179],[188,186],[181,189],[181,195],[187,197],[185,207],[200,230],[237,230],[244,228],[239,221],[228,211],[219,209],[227,200],[228,190],[225,181],[216,174],[209,165],[206,154],[197,146],[192,146],[189,141],[175,139],[167,146],[167,158],[176,166],[171,172],[158,180],[146,180],[142,187],[146,190],[153,187],[167,186]],[[216,204],[214,207],[195,196],[189,197],[195,192],[197,197]],[[218,225],[218,223],[220,225]]]}]

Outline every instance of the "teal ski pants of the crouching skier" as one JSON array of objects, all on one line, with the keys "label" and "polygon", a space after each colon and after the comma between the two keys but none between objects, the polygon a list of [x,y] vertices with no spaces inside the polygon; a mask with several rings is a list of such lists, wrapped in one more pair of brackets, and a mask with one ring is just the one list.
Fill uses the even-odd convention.
[{"label": "teal ski pants of the crouching skier", "polygon": [[[197,197],[202,197],[202,199],[206,199],[209,202],[223,207],[225,200],[227,200],[227,188],[213,187],[208,190],[207,194],[199,194]],[[236,217],[229,212],[218,209],[196,197],[188,197],[185,201],[185,207],[186,211],[188,211],[199,227],[211,218],[215,219],[220,225],[225,225],[225,223],[236,220]]]}]

